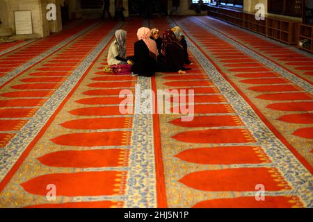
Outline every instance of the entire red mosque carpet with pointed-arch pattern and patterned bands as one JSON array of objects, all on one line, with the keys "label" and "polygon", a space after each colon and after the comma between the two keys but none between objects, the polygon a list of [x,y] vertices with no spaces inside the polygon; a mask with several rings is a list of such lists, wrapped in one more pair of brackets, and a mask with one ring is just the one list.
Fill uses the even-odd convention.
[{"label": "entire red mosque carpet with pointed-arch pattern and patterned bands", "polygon": [[[0,207],[312,207],[312,55],[209,17],[129,18],[6,53],[1,75],[92,25],[1,86]],[[115,29],[128,32],[130,56],[138,28],[174,25],[188,40],[187,74],[102,72]],[[193,120],[134,114],[138,85],[193,89]],[[134,93],[127,113],[122,89]]]}]

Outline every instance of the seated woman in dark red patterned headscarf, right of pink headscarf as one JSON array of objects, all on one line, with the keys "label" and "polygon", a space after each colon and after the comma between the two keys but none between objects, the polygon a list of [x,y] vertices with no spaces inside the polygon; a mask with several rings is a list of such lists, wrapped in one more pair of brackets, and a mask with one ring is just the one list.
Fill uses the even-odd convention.
[{"label": "seated woman in dark red patterned headscarf, right of pink headscarf", "polygon": [[160,71],[178,71],[185,74],[184,48],[171,30],[163,32],[161,56],[159,58]]}]

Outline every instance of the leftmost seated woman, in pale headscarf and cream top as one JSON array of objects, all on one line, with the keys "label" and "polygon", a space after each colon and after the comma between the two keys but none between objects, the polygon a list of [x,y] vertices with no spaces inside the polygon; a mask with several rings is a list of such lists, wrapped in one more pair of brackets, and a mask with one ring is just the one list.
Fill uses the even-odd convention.
[{"label": "leftmost seated woman, in pale headscarf and cream top", "polygon": [[126,31],[122,29],[115,31],[115,40],[111,43],[109,48],[108,65],[127,64],[126,40]]}]

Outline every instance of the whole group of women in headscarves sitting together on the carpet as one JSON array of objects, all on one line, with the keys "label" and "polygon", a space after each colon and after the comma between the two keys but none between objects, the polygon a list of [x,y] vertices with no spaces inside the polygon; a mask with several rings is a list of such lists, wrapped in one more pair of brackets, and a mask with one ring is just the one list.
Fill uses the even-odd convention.
[{"label": "whole group of women in headscarves sitting together on the carpet", "polygon": [[[127,32],[118,30],[115,32],[115,40],[112,42],[108,53],[108,67],[104,71],[112,71],[112,67],[118,69],[116,72],[127,71],[134,76],[153,76],[155,72],[178,72],[185,74],[191,65],[188,58],[187,43],[178,26],[163,32],[159,36],[157,28],[139,28],[137,31],[138,41],[134,44],[134,56],[126,56]],[[106,68],[108,68],[106,67]]]}]

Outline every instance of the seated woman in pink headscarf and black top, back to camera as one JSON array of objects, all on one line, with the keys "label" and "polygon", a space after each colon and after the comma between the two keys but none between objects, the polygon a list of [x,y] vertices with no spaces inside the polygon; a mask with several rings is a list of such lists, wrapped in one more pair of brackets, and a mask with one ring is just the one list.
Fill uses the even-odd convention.
[{"label": "seated woman in pink headscarf and black top, back to camera", "polygon": [[152,76],[157,71],[157,56],[159,55],[157,44],[150,38],[149,28],[139,28],[138,41],[135,42],[135,55],[133,71],[138,76]]}]

